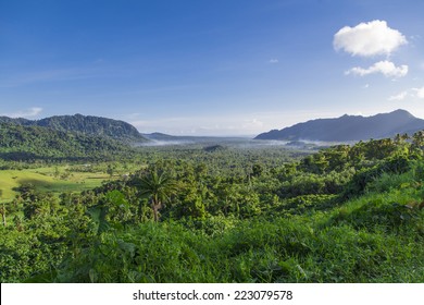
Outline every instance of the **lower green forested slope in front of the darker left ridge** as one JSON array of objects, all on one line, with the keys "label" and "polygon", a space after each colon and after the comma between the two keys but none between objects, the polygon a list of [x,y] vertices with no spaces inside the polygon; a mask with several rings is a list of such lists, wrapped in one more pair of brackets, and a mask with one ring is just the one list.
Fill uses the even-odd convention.
[{"label": "lower green forested slope in front of the darker left ridge", "polygon": [[111,159],[130,147],[104,136],[0,123],[0,159]]}]

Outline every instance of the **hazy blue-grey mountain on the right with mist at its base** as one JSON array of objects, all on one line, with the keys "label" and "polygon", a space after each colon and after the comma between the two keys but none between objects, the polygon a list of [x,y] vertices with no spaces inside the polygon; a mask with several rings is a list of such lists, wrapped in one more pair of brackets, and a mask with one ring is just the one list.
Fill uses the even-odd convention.
[{"label": "hazy blue-grey mountain on the right with mist at its base", "polygon": [[262,133],[255,139],[347,142],[413,134],[420,130],[424,130],[424,120],[399,109],[373,117],[345,114],[336,119],[311,120]]}]

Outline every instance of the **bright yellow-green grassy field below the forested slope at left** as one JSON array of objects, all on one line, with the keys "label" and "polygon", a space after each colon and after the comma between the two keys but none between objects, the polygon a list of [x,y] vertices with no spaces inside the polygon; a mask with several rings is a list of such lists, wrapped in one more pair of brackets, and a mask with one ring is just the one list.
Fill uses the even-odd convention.
[{"label": "bright yellow-green grassy field below the forested slope at left", "polygon": [[1,170],[0,190],[3,191],[0,202],[8,202],[17,194],[13,191],[25,183],[33,184],[40,192],[82,192],[101,185],[110,179],[103,172],[74,172],[67,167],[48,167],[26,170]]}]

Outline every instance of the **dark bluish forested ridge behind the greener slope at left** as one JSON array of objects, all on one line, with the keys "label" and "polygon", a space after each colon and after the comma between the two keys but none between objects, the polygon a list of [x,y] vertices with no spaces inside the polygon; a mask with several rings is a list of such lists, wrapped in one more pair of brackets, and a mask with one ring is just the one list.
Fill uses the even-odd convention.
[{"label": "dark bluish forested ridge behind the greener slope at left", "polygon": [[49,127],[62,132],[76,132],[86,135],[107,136],[121,141],[147,141],[133,125],[117,120],[91,115],[55,115],[41,120],[11,119],[0,117],[0,123],[15,123],[27,126]]}]

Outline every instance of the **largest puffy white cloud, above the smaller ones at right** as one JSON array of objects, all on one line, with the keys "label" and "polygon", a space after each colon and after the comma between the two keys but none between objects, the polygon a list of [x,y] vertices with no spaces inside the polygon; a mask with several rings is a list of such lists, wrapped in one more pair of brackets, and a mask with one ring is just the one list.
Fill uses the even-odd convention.
[{"label": "largest puffy white cloud, above the smaller ones at right", "polygon": [[360,57],[389,56],[406,44],[407,38],[399,30],[379,20],[360,23],[354,27],[345,26],[334,35],[333,40],[336,50]]}]

